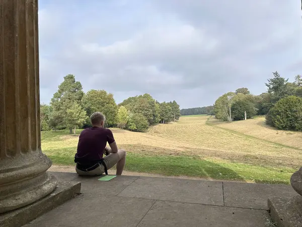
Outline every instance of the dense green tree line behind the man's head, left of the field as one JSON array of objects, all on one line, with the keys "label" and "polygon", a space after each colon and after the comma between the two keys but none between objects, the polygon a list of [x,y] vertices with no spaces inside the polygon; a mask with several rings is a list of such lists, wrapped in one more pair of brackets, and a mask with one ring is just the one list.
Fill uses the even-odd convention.
[{"label": "dense green tree line behind the man's head, left of the field", "polygon": [[53,94],[50,104],[41,104],[41,131],[91,127],[89,116],[100,111],[106,127],[144,132],[150,125],[179,120],[176,101],[159,102],[149,94],[129,97],[116,104],[113,94],[105,90],[83,92],[82,84],[68,74]]}]

